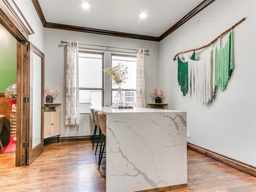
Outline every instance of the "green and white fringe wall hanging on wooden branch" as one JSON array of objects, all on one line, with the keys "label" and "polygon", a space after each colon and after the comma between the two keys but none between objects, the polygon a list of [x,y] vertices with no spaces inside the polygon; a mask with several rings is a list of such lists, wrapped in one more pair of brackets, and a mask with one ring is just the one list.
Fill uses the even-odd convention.
[{"label": "green and white fringe wall hanging on wooden branch", "polygon": [[[212,42],[196,49],[190,49],[177,53],[179,54],[193,51],[189,58],[184,54],[185,62],[178,56],[178,84],[183,96],[190,96],[200,104],[208,104],[212,100],[217,87],[224,91],[234,69],[234,33],[233,28],[244,21],[242,18],[233,26],[217,36]],[[221,48],[221,37],[230,31],[226,44]],[[216,42],[217,41],[217,42]],[[214,45],[214,42],[216,44]],[[211,52],[202,60],[195,60],[195,51],[212,46]]]}]

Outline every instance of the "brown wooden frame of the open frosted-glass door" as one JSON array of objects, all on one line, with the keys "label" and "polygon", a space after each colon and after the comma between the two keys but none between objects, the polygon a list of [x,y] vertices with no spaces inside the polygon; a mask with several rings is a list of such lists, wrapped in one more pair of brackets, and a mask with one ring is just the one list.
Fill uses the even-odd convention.
[{"label": "brown wooden frame of the open frosted-glass door", "polygon": [[[32,148],[32,135],[33,135],[33,98],[31,96],[31,80],[33,63],[33,52],[42,58],[41,60],[41,143]],[[42,152],[44,151],[44,54],[36,48],[32,43],[28,43],[28,125],[27,125],[27,142],[28,148],[26,151],[26,165],[30,165]]]}]

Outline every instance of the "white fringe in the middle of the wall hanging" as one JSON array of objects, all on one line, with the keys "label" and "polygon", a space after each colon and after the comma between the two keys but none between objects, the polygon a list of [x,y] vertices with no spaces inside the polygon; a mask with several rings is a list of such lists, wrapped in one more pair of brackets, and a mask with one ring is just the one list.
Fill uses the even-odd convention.
[{"label": "white fringe in the middle of the wall hanging", "polygon": [[188,96],[200,104],[207,105],[214,96],[216,47],[220,47],[220,40],[210,54],[199,61],[191,60],[185,55],[185,61],[188,61]]}]

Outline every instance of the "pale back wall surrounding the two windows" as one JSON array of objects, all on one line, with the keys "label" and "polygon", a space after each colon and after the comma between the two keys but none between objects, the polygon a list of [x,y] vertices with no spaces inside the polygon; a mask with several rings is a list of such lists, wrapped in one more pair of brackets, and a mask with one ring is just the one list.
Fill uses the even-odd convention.
[{"label": "pale back wall surrounding the two windows", "polygon": [[[92,135],[94,124],[91,121],[89,124],[90,116],[85,115],[81,116],[80,126],[64,127],[64,110],[66,102],[66,95],[64,92],[66,81],[66,45],[63,46],[60,44],[61,40],[73,40],[83,44],[96,44],[131,49],[136,49],[139,47],[150,50],[149,56],[145,56],[145,84],[146,102],[151,102],[151,98],[149,96],[150,92],[152,92],[154,87],[159,87],[159,42],[44,28],[45,85],[51,89],[59,87],[59,94],[54,102],[62,103],[62,137]],[[104,52],[104,60],[104,67],[106,68],[110,66],[111,52]],[[111,84],[108,81],[108,76],[105,76],[104,78],[104,104],[105,106],[110,106]]]}]

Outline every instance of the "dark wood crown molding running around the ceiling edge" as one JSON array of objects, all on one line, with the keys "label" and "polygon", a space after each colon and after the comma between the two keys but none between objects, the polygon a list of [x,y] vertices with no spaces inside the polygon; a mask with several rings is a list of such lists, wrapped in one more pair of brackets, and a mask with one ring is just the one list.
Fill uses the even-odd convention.
[{"label": "dark wood crown molding running around the ceiling edge", "polygon": [[170,35],[172,32],[174,32],[176,29],[178,29],[180,26],[182,26],[184,23],[186,23],[188,20],[190,20],[192,17],[194,17],[200,11],[202,11],[204,8],[206,8],[207,6],[212,4],[212,2],[214,2],[214,1],[215,0],[204,0],[198,6],[196,6],[192,11],[190,11],[188,14],[186,14],[182,19],[180,19],[173,26],[171,26],[168,30],[166,30],[166,32],[164,32],[161,36],[155,37],[155,36],[146,36],[146,35],[140,35],[140,34],[131,34],[131,33],[124,33],[124,32],[117,32],[117,31],[101,30],[101,29],[95,29],[95,28],[87,28],[87,27],[81,27],[81,26],[73,26],[73,25],[46,22],[46,19],[44,17],[44,13],[39,4],[39,1],[32,0],[34,7],[36,9],[36,12],[38,13],[38,16],[42,22],[42,25],[46,28],[70,30],[70,31],[93,33],[93,34],[100,34],[100,35],[109,35],[109,36],[124,37],[124,38],[133,38],[133,39],[140,39],[140,40],[149,40],[149,41],[156,41],[156,42],[159,42],[159,41],[163,40],[164,38],[166,38],[168,35]]}]

